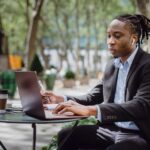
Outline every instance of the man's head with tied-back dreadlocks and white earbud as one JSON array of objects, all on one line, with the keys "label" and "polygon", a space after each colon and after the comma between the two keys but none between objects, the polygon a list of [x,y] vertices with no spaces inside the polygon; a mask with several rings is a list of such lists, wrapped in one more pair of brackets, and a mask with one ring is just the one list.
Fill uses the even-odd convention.
[{"label": "man's head with tied-back dreadlocks and white earbud", "polygon": [[116,17],[107,30],[108,49],[114,57],[125,61],[136,45],[142,43],[150,33],[150,20],[143,15],[122,15]]}]

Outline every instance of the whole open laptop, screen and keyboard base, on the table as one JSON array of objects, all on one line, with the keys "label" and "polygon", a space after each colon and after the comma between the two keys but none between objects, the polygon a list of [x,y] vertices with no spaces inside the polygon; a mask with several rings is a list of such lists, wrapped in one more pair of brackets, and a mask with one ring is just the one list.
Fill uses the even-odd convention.
[{"label": "whole open laptop, screen and keyboard base, on the table", "polygon": [[[38,119],[74,119],[86,118],[87,116],[75,116],[70,114],[52,114],[52,111],[45,109],[40,94],[40,86],[35,71],[16,71],[16,83],[21,99],[22,109],[27,115]],[[55,108],[56,105],[48,105]]]}]

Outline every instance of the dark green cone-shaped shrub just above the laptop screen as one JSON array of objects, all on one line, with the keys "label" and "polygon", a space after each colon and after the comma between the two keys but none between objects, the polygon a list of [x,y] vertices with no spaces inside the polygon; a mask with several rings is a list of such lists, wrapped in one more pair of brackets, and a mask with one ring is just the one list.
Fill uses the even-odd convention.
[{"label": "dark green cone-shaped shrub just above the laptop screen", "polygon": [[41,61],[39,59],[39,56],[37,54],[34,55],[34,58],[31,62],[30,70],[31,71],[36,71],[37,74],[41,74],[44,70],[43,66],[41,64]]}]

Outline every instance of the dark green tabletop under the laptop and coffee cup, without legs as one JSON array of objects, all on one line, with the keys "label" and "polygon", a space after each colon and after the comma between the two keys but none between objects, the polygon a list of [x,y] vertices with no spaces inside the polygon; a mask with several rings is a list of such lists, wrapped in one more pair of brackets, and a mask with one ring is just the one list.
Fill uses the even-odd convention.
[{"label": "dark green tabletop under the laptop and coffee cup, without legs", "polygon": [[6,112],[0,114],[0,122],[4,123],[22,123],[22,124],[46,124],[46,123],[65,123],[80,120],[81,118],[70,118],[70,119],[50,119],[50,120],[40,120],[26,115],[22,111],[18,112]]}]

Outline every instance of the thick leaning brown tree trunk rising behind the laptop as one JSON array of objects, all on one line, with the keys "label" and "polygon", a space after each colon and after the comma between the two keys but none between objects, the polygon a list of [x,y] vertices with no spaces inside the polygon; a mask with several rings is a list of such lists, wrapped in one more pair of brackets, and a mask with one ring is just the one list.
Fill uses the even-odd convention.
[{"label": "thick leaning brown tree trunk rising behind the laptop", "polygon": [[32,17],[29,25],[28,35],[27,35],[27,43],[26,43],[26,54],[27,54],[27,62],[26,65],[29,68],[33,56],[35,54],[35,41],[38,29],[38,22],[40,20],[40,12],[43,5],[44,0],[36,0],[35,8],[32,12]]}]

